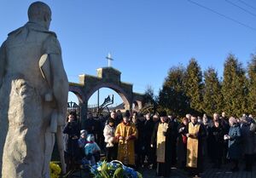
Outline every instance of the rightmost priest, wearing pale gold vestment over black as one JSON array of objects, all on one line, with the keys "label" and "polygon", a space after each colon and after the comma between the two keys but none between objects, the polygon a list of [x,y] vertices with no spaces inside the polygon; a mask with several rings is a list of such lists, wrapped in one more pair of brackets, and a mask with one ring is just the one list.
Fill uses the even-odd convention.
[{"label": "rightmost priest, wearing pale gold vestment over black", "polygon": [[192,116],[191,122],[186,128],[187,133],[187,168],[190,175],[199,175],[202,172],[202,138],[206,136],[206,131],[197,122],[197,117]]}]

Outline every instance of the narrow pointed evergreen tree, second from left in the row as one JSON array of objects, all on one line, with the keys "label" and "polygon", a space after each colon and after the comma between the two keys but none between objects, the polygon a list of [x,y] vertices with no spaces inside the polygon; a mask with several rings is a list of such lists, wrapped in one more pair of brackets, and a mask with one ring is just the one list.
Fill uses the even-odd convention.
[{"label": "narrow pointed evergreen tree, second from left in the row", "polygon": [[187,97],[189,98],[189,106],[191,113],[202,113],[202,72],[201,67],[195,59],[189,60],[187,71],[184,78],[184,87]]}]

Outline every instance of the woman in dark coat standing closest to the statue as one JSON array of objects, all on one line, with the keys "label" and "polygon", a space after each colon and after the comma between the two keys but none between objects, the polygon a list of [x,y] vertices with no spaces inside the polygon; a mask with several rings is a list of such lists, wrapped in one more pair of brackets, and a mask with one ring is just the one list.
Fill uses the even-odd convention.
[{"label": "woman in dark coat standing closest to the statue", "polygon": [[76,161],[79,161],[79,124],[76,122],[76,113],[70,112],[67,123],[63,129],[64,135],[64,156],[67,164],[67,171],[72,169]]}]

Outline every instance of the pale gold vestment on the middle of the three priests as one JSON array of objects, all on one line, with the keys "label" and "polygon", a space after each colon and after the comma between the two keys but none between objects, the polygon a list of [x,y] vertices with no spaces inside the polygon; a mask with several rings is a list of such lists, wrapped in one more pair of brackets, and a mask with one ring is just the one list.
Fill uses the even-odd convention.
[{"label": "pale gold vestment on the middle of the three priests", "polygon": [[166,136],[163,135],[163,132],[166,132],[167,129],[168,123],[159,123],[156,138],[156,161],[158,163],[166,162]]}]

